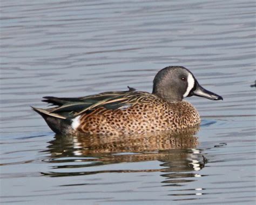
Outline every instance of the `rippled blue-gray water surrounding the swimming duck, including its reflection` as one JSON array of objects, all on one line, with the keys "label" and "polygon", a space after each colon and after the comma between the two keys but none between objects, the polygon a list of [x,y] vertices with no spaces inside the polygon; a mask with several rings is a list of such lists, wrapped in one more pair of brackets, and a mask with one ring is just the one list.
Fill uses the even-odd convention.
[{"label": "rippled blue-gray water surrounding the swimming duck, including its reflection", "polygon": [[[254,1],[2,1],[1,202],[254,204]],[[192,136],[55,136],[30,106],[190,69],[224,101],[192,97]]]}]

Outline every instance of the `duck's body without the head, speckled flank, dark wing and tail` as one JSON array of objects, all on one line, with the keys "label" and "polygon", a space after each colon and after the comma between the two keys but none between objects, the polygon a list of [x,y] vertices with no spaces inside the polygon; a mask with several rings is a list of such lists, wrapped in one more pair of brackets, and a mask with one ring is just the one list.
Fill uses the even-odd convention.
[{"label": "duck's body without the head, speckled flank, dark wing and tail", "polygon": [[[200,123],[198,111],[187,101],[169,103],[147,92],[118,91],[84,98],[45,98],[59,106],[35,110],[48,118],[46,122],[56,133],[133,134],[176,131]],[[54,125],[56,118],[63,121],[60,123],[64,126]]]}]

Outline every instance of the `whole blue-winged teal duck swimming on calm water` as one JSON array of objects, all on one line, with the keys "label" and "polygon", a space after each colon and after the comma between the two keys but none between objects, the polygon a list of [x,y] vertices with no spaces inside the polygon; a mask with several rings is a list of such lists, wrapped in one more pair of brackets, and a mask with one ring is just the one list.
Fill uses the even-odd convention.
[{"label": "whole blue-winged teal duck swimming on calm water", "polygon": [[222,100],[201,87],[182,66],[160,70],[152,93],[136,91],[104,92],[80,98],[44,97],[57,107],[33,108],[56,133],[132,134],[177,131],[200,124],[199,113],[183,98],[197,95]]}]

